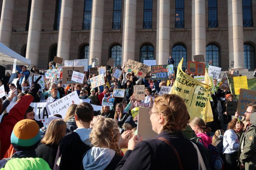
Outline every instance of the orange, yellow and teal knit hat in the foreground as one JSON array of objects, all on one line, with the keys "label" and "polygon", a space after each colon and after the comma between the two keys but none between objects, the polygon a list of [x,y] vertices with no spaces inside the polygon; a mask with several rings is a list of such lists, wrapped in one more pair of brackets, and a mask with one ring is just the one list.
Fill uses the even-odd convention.
[{"label": "orange, yellow and teal knit hat in the foreground", "polygon": [[24,119],[14,126],[11,134],[11,144],[20,147],[31,147],[40,141],[40,137],[41,132],[36,121]]}]

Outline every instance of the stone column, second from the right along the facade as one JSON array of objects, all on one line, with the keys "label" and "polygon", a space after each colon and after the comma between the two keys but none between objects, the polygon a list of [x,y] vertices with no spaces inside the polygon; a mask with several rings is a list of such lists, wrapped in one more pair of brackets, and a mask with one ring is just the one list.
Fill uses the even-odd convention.
[{"label": "stone column, second from the right along the facade", "polygon": [[192,60],[203,54],[206,60],[205,0],[192,0]]}]

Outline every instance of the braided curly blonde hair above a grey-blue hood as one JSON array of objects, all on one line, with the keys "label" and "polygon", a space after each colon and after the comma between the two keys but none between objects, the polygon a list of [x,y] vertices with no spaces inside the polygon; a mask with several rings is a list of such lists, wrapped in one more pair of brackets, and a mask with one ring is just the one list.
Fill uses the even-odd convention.
[{"label": "braided curly blonde hair above a grey-blue hood", "polygon": [[107,147],[115,150],[117,155],[121,155],[121,150],[118,146],[120,135],[118,125],[113,119],[102,118],[94,124],[89,140],[95,147]]}]

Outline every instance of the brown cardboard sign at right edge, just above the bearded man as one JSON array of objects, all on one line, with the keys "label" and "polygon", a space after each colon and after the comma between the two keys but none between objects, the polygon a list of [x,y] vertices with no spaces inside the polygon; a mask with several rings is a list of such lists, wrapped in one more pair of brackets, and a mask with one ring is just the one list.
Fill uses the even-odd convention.
[{"label": "brown cardboard sign at right edge, just above the bearded man", "polygon": [[244,116],[247,105],[250,103],[253,105],[256,104],[256,91],[241,88],[237,105],[237,111],[240,116]]}]

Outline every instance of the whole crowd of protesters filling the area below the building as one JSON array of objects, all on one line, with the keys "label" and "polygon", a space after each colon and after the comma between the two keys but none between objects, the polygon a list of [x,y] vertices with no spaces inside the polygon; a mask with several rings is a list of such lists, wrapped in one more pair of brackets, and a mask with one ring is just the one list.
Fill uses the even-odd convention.
[{"label": "whole crowd of protesters filling the area below the building", "polygon": [[[174,64],[172,56],[168,64]],[[209,65],[211,62],[209,62]],[[56,65],[56,67],[58,67]],[[49,69],[54,69],[49,63]],[[45,79],[44,90],[28,77],[31,73],[44,75],[35,66],[17,66],[17,83],[8,83],[9,73],[2,81],[6,96],[0,99],[2,114],[10,102],[16,105],[5,113],[0,123],[0,168],[38,170],[112,170],[112,169],[187,169],[187,170],[255,170],[256,169],[256,105],[248,104],[245,116],[228,116],[228,101],[234,101],[230,91],[221,90],[220,80],[214,79],[215,94],[211,94],[212,122],[199,117],[190,118],[184,100],[175,94],[160,95],[161,86],[172,86],[175,73],[168,80],[146,80],[132,72],[119,79],[106,71],[105,85],[92,88],[90,72],[83,85],[62,84],[62,77]],[[186,72],[187,73],[187,72]],[[188,73],[187,73],[188,74]],[[62,74],[61,74],[62,75]],[[86,74],[85,74],[86,75]],[[194,75],[191,74],[191,77]],[[146,74],[145,74],[146,77]],[[145,86],[145,99],[136,100],[133,86]],[[114,88],[125,89],[124,97],[113,97]],[[90,102],[72,104],[66,116],[48,117],[47,125],[35,120],[31,102],[55,102],[76,92],[80,99]],[[113,107],[102,105],[104,97],[113,97]],[[6,98],[6,99],[4,99]],[[92,105],[102,105],[94,110]],[[149,117],[155,139],[143,140],[137,135],[138,115],[135,107],[150,108]],[[216,148],[218,153],[211,153]],[[125,148],[125,149],[124,149]],[[220,165],[211,159],[218,155]]]}]

